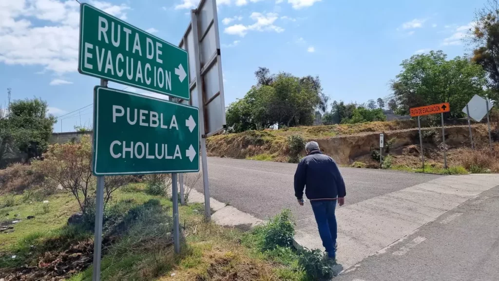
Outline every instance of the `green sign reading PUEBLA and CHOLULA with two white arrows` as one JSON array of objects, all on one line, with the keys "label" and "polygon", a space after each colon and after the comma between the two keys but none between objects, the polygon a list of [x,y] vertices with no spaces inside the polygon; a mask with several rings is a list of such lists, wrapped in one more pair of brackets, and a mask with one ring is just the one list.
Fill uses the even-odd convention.
[{"label": "green sign reading PUEBLA and CHOLULA with two white arrows", "polygon": [[196,107],[96,86],[93,173],[199,171],[198,124]]}]

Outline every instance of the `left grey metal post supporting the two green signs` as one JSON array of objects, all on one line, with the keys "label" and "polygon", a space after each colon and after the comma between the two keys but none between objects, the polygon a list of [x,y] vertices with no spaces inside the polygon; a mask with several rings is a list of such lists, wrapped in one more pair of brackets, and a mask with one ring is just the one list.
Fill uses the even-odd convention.
[{"label": "left grey metal post supporting the two green signs", "polygon": [[[107,87],[107,80],[100,79],[100,85]],[[62,120],[61,120],[62,126]],[[62,131],[62,129],[61,129]],[[93,153],[93,148],[92,148]],[[100,281],[100,258],[102,252],[102,217],[104,216],[104,177],[97,176],[97,189],[95,190],[95,229],[94,229],[94,259],[93,281]]]}]

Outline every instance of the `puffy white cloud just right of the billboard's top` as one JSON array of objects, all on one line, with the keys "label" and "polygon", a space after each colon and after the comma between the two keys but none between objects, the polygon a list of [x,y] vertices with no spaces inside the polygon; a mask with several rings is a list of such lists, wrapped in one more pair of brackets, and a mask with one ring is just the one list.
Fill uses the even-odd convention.
[{"label": "puffy white cloud just right of the billboard's top", "polygon": [[274,12],[268,12],[266,14],[262,14],[259,12],[252,12],[250,18],[255,20],[256,22],[251,25],[244,24],[234,24],[228,26],[224,29],[224,32],[232,35],[239,35],[244,37],[248,30],[256,30],[256,31],[275,31],[277,33],[284,31],[284,28],[274,25],[274,21],[278,18],[278,14]]}]

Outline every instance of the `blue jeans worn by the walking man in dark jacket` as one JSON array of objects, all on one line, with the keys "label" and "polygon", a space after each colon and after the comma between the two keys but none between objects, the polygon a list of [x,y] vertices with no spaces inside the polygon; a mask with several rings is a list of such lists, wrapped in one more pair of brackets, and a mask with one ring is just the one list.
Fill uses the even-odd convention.
[{"label": "blue jeans worn by the walking man in dark jacket", "polygon": [[315,215],[315,221],[317,221],[322,245],[326,248],[328,256],[335,258],[334,247],[338,236],[336,216],[334,215],[336,200],[310,201],[310,204]]}]

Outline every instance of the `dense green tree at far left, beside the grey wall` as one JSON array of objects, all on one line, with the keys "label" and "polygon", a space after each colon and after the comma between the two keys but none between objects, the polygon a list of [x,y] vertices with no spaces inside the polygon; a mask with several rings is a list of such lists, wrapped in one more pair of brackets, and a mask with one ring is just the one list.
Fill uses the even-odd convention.
[{"label": "dense green tree at far left, beside the grey wall", "polygon": [[10,103],[8,119],[13,139],[19,150],[28,153],[28,158],[47,148],[56,121],[47,111],[47,102],[36,97]]}]

